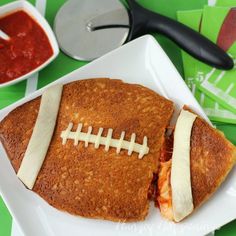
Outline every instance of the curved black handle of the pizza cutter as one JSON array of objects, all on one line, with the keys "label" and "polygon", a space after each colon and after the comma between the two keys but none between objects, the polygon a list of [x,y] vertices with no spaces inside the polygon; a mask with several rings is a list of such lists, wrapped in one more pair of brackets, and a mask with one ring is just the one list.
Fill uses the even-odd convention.
[{"label": "curved black handle of the pizza cutter", "polygon": [[220,47],[191,28],[140,6],[135,0],[128,0],[131,16],[129,39],[143,34],[157,32],[179,45],[198,60],[218,69],[230,70],[234,63]]}]

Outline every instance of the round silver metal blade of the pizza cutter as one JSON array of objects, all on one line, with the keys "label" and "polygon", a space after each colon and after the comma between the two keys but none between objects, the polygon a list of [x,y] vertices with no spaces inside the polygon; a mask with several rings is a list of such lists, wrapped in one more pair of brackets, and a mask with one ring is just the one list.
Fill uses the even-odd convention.
[{"label": "round silver metal blade of the pizza cutter", "polygon": [[[94,28],[104,24],[125,27]],[[124,44],[129,24],[128,12],[118,0],[69,0],[56,15],[54,31],[62,51],[90,61]]]}]

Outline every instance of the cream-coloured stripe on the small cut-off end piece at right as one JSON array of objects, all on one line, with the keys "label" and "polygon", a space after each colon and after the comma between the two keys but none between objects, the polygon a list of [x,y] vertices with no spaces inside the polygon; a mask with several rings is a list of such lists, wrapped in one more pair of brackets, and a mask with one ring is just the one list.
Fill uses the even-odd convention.
[{"label": "cream-coloured stripe on the small cut-off end piece at right", "polygon": [[179,222],[193,211],[190,173],[190,140],[196,115],[182,110],[174,132],[171,188],[174,221]]}]

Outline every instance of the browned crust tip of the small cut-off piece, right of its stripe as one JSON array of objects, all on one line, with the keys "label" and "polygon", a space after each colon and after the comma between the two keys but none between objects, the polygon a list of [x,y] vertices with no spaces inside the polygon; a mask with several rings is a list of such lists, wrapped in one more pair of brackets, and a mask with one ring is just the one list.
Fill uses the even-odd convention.
[{"label": "browned crust tip of the small cut-off piece, right of its stripe", "polygon": [[235,161],[235,146],[223,133],[197,118],[191,134],[191,182],[195,208],[218,189]]}]

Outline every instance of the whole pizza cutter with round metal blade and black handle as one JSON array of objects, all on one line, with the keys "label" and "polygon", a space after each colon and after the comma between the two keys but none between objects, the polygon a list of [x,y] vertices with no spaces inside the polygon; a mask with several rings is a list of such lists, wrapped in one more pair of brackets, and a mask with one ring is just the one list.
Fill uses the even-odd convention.
[{"label": "whole pizza cutter with round metal blade and black handle", "polygon": [[233,60],[216,44],[187,26],[128,0],[68,0],[58,11],[54,31],[62,51],[93,60],[141,35],[157,32],[198,60],[229,70]]}]

